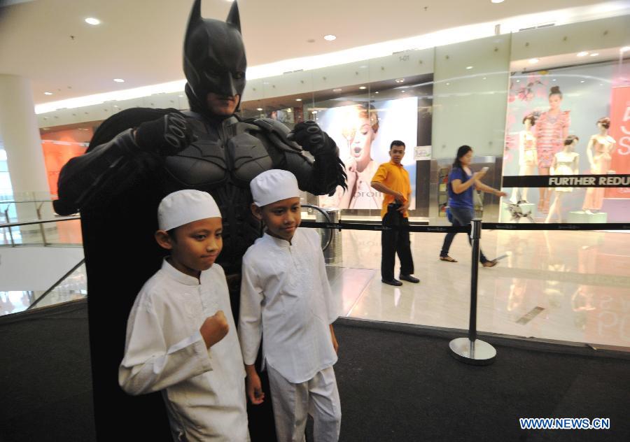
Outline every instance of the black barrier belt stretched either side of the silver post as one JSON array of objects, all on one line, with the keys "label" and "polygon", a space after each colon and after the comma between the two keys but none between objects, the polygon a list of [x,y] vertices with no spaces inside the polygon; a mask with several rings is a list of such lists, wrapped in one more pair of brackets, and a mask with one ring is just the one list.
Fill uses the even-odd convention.
[{"label": "black barrier belt stretched either side of the silver post", "polygon": [[[313,229],[338,229],[338,230],[402,230],[417,231],[429,233],[467,233],[470,234],[470,225],[468,226],[428,226],[414,225],[408,226],[387,226],[383,224],[363,224],[360,222],[318,222],[302,220],[301,227],[310,227]],[[582,224],[567,223],[524,223],[517,224],[511,222],[484,222],[482,223],[484,230],[630,230],[630,223],[624,222],[592,222]]]}]

